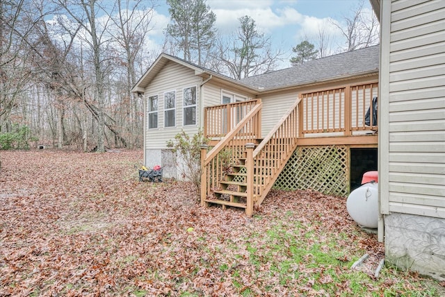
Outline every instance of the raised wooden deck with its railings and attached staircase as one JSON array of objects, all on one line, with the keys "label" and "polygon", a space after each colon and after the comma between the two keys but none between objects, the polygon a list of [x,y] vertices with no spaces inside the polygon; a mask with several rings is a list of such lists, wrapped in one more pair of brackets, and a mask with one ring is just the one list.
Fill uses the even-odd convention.
[{"label": "raised wooden deck with its railings and attached staircase", "polygon": [[266,137],[261,136],[261,99],[206,108],[202,148],[202,205],[261,205],[298,146],[377,147],[377,123],[365,114],[377,82],[300,94]]}]

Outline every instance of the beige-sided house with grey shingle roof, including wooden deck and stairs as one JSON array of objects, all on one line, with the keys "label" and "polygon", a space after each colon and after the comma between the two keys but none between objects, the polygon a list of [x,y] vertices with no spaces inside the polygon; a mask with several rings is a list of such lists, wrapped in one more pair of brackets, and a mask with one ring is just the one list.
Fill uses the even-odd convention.
[{"label": "beige-sided house with grey shingle roof, including wooden deck and stairs", "polygon": [[[203,128],[213,147],[202,164],[203,205],[252,214],[272,187],[346,196],[377,169],[378,126],[364,117],[378,95],[378,57],[371,46],[234,80],[163,53],[132,89],[145,99],[145,166],[181,178],[167,141]],[[249,142],[250,164],[261,166],[252,172],[264,176],[243,168]],[[249,194],[247,178],[256,183]]]}]

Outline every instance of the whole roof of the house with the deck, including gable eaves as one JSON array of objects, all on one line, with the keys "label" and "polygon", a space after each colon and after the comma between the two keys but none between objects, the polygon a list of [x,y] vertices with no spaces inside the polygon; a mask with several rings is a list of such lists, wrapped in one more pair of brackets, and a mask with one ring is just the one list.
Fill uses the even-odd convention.
[{"label": "whole roof of the house with the deck, including gable eaves", "polygon": [[145,92],[154,77],[167,65],[168,62],[176,62],[195,71],[195,75],[204,79],[211,78],[222,83],[236,85],[254,94],[275,90],[286,90],[302,85],[321,83],[327,80],[348,78],[351,76],[374,74],[378,72],[380,46],[370,46],[365,49],[357,49],[346,53],[339,53],[316,60],[310,60],[302,65],[296,65],[282,70],[271,71],[266,74],[251,76],[241,80],[235,80],[218,74],[205,67],[198,66],[181,58],[170,56],[166,53],[156,58],[154,63],[145,71],[131,92]]}]

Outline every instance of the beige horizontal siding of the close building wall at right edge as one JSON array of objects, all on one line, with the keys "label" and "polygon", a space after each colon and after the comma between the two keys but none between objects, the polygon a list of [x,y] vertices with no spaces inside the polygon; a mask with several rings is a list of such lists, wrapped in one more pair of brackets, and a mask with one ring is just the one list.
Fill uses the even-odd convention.
[{"label": "beige horizontal siding of the close building wall at right edge", "polygon": [[389,48],[382,42],[389,187],[381,194],[389,212],[445,218],[444,28],[445,1],[391,4]]}]

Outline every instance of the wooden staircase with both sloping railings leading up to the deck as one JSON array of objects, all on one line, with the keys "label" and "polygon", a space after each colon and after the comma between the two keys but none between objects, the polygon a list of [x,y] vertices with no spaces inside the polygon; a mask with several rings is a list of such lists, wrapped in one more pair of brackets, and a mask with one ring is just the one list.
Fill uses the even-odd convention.
[{"label": "wooden staircase with both sloping railings leading up to the deck", "polygon": [[299,103],[300,99],[261,142],[260,102],[209,152],[202,148],[203,206],[240,207],[252,216],[296,149]]}]

